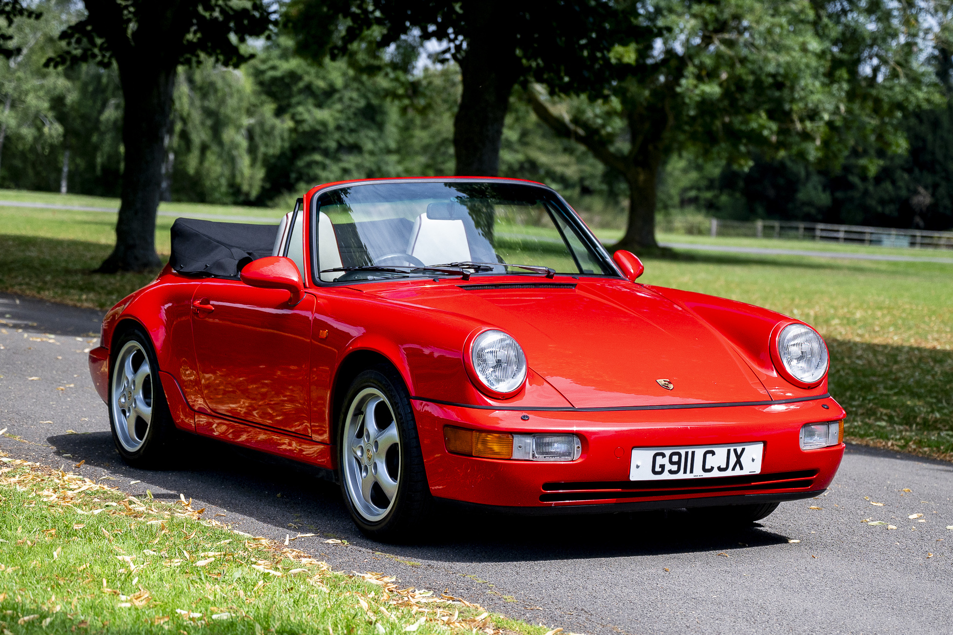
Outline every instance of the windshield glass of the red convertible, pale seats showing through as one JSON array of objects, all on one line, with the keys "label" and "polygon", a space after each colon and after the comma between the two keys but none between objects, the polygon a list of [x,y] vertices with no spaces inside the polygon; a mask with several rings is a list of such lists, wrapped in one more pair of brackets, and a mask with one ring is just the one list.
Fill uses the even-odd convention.
[{"label": "windshield glass of the red convertible, pale seats showing through", "polygon": [[323,282],[433,277],[441,273],[426,268],[438,266],[451,270],[443,274],[618,276],[558,196],[529,184],[372,183],[320,195],[314,209]]}]

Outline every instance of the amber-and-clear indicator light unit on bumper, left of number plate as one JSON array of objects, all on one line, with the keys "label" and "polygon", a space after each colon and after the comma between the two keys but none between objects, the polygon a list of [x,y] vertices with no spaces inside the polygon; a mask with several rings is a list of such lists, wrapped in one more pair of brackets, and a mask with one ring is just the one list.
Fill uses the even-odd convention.
[{"label": "amber-and-clear indicator light unit on bumper, left of number plate", "polygon": [[443,428],[443,441],[452,454],[483,459],[576,461],[582,454],[576,435],[511,435],[448,425]]}]

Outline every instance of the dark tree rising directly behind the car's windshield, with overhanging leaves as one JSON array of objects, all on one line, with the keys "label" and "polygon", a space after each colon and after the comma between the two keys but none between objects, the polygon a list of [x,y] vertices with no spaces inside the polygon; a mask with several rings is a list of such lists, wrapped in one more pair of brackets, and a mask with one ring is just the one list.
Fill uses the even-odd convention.
[{"label": "dark tree rising directly behind the car's windshield, with overhanging leaves", "polygon": [[[335,29],[335,17],[347,26]],[[288,22],[298,50],[314,59],[340,54],[371,32],[379,47],[400,38],[435,39],[437,60],[459,65],[462,92],[454,120],[456,174],[495,176],[510,95],[533,77],[577,92],[604,82],[608,51],[644,31],[618,21],[601,0],[293,0]],[[625,29],[619,31],[618,27]]]}]

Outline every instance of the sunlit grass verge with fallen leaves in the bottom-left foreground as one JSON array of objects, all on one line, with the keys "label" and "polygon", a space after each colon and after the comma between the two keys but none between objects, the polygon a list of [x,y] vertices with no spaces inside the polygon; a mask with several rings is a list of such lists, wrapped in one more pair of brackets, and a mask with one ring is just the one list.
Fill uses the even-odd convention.
[{"label": "sunlit grass verge with fallen leaves in the bottom-left foreground", "polygon": [[4,635],[546,631],[380,574],[335,573],[293,546],[202,520],[190,502],[139,500],[36,463],[3,461]]}]

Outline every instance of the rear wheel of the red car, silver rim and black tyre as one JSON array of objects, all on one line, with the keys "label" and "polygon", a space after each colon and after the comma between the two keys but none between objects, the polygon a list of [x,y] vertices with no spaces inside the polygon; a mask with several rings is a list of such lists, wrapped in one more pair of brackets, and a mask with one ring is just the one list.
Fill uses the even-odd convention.
[{"label": "rear wheel of the red car, silver rim and black tyre", "polygon": [[140,329],[113,344],[110,364],[110,427],[116,450],[132,467],[158,467],[169,460],[175,426],[159,381],[152,341]]}]

